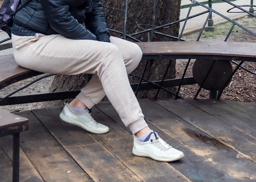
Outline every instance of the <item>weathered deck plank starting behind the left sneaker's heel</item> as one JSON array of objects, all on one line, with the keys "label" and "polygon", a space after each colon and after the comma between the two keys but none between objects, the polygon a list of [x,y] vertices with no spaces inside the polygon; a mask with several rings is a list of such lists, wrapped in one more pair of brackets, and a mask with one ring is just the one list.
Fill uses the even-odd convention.
[{"label": "weathered deck plank starting behind the left sneaker's heel", "polygon": [[61,121],[61,110],[58,107],[33,112],[94,181],[141,181],[89,132]]}]

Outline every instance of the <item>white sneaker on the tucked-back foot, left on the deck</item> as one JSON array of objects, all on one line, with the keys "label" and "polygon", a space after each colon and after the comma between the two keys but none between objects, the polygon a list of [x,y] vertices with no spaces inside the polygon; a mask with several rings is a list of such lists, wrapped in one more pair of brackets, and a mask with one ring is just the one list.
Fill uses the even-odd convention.
[{"label": "white sneaker on the tucked-back foot, left on the deck", "polygon": [[103,134],[109,131],[109,127],[97,123],[93,119],[88,108],[84,112],[79,113],[72,110],[68,103],[66,103],[65,107],[60,113],[60,118],[67,123],[75,124],[76,126],[82,127],[84,130],[92,133]]}]

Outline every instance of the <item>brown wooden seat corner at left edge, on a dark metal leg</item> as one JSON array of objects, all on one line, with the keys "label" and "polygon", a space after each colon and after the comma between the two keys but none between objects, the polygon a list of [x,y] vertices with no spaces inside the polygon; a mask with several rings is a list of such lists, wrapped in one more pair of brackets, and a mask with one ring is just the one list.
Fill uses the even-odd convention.
[{"label": "brown wooden seat corner at left edge, on a dark metal leg", "polygon": [[27,124],[28,119],[0,109],[0,129]]}]

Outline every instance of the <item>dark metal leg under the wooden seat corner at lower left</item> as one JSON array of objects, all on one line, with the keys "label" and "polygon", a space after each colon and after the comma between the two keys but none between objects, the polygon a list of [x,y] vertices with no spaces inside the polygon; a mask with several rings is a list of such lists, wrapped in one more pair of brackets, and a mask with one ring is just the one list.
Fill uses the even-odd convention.
[{"label": "dark metal leg under the wooden seat corner at lower left", "polygon": [[13,134],[12,181],[19,181],[19,133]]}]

